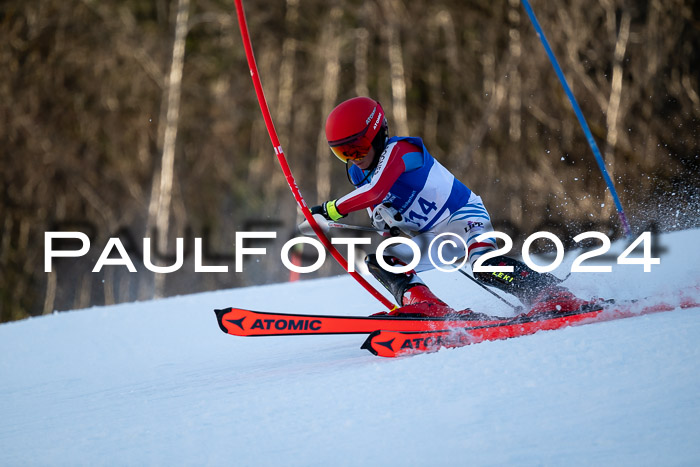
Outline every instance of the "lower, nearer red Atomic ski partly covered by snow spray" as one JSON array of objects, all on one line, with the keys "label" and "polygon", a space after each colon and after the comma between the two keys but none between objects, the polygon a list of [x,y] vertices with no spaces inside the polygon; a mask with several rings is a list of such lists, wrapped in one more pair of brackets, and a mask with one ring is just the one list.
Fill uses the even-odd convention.
[{"label": "lower, nearer red Atomic ski partly covered by snow spray", "polygon": [[370,334],[362,348],[381,357],[399,357],[423,352],[435,352],[443,347],[462,347],[484,341],[526,336],[538,331],[560,329],[567,326],[671,311],[676,308],[695,307],[700,307],[698,300],[685,297],[679,304],[675,305],[670,303],[644,305],[642,302],[628,302],[618,305],[588,306],[565,313],[552,311],[532,316],[520,315],[507,322],[498,324],[461,326],[451,330],[423,332],[381,330]]}]

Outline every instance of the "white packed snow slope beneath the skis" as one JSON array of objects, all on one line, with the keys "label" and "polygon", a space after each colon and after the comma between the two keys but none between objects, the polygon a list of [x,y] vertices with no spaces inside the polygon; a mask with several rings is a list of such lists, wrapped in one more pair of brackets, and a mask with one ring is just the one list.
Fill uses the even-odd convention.
[{"label": "white packed snow slope beneath the skis", "polygon": [[[695,285],[699,237],[663,235],[651,273],[613,258],[566,284],[619,299]],[[508,314],[458,274],[425,279]],[[212,310],[227,306],[381,310],[338,277],[4,324],[0,465],[700,464],[700,309],[381,359],[361,335],[226,335]]]}]

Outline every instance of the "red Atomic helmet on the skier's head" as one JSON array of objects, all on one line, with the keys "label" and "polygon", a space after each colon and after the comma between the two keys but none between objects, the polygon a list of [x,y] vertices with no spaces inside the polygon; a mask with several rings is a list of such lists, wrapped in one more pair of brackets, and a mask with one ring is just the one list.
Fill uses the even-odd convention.
[{"label": "red Atomic helmet on the skier's head", "polygon": [[386,129],[381,104],[369,97],[354,97],[328,115],[326,139],[333,154],[341,161],[360,160],[373,143],[378,145],[375,150],[384,149]]}]

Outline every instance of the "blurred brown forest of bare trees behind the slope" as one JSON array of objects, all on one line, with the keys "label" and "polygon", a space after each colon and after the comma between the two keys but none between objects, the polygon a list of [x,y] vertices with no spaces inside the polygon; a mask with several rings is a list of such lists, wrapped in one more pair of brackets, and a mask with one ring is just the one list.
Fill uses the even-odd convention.
[{"label": "blurred brown forest of bare trees behind the slope", "polygon": [[[421,136],[481,195],[516,245],[538,230],[568,246],[587,230],[622,235],[519,1],[245,7],[276,129],[310,205],[351,189],[323,128],[335,105],[366,95],[383,104],[391,134]],[[533,8],[634,231],[697,226],[698,2]],[[278,252],[296,236],[299,211],[255,100],[233,2],[5,0],[0,43],[0,321],[289,279]],[[44,272],[44,233],[76,230],[89,235],[89,253]],[[235,273],[235,232],[250,230],[278,238]],[[138,272],[92,272],[110,237]],[[164,265],[184,238],[184,266],[148,271],[144,237]],[[205,264],[228,273],[194,273],[194,237]],[[308,276],[342,272],[326,263]]]}]

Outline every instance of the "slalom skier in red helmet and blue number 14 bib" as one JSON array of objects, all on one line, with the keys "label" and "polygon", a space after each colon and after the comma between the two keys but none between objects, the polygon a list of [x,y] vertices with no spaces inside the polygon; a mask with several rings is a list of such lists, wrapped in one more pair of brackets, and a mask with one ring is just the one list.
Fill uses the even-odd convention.
[{"label": "slalom skier in red helmet and blue number 14 bib", "polygon": [[[405,307],[389,314],[455,314],[417,273],[434,268],[431,258],[439,258],[440,253],[447,260],[466,255],[473,268],[480,256],[497,248],[493,238],[476,241],[481,234],[493,231],[481,198],[434,159],[421,138],[390,138],[384,110],[373,99],[355,97],[333,109],[326,120],[326,137],[333,154],[346,164],[355,189],[312,207],[311,213],[323,223],[324,219],[336,221],[367,209],[375,227],[394,233],[398,228],[412,237],[421,250],[420,262],[413,271],[392,273],[380,267],[376,255],[365,258],[372,275],[389,290],[399,307]],[[464,242],[445,243],[442,251],[438,251],[440,241],[430,247],[431,241],[444,233],[458,235]],[[405,266],[413,259],[413,251],[405,244],[393,245],[385,252],[383,259],[391,266]],[[560,280],[555,276],[537,273],[514,258],[489,258],[483,265],[512,266],[512,273],[477,272],[474,277],[513,294],[526,306],[540,301],[544,293],[560,300],[573,297],[566,289],[556,287]]]}]

